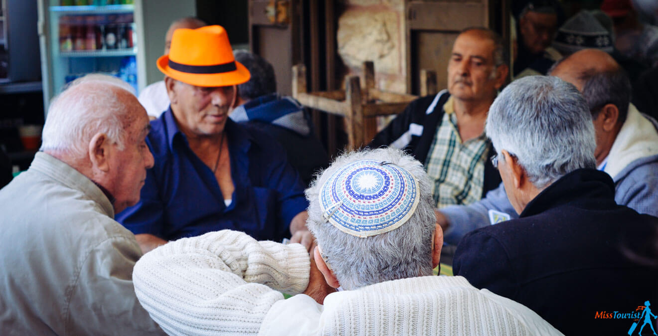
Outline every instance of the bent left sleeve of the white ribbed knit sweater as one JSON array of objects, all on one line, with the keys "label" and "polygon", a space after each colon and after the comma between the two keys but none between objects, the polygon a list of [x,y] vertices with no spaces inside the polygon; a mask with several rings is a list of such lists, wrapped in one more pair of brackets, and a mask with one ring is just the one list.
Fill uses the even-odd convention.
[{"label": "bent left sleeve of the white ribbed knit sweater", "polygon": [[306,289],[309,269],[302,245],[223,230],[145,254],[133,281],[141,305],[170,335],[256,335],[280,292]]}]

